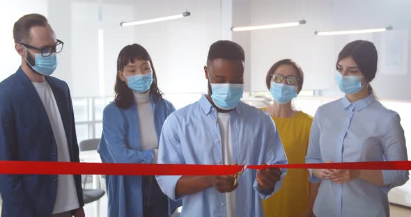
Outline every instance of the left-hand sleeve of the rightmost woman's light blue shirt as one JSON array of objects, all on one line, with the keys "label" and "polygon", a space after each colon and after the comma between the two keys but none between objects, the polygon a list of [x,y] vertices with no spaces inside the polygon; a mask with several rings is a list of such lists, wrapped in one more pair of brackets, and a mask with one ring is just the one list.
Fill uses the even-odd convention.
[{"label": "left-hand sleeve of the rightmost woman's light blue shirt", "polygon": [[[305,163],[323,163],[320,152],[320,124],[319,124],[319,111],[314,116],[313,123],[311,124],[311,132],[309,138],[309,146],[307,150],[307,156],[305,157]],[[312,169],[309,169],[309,182],[317,183],[320,179],[313,176]]]}]

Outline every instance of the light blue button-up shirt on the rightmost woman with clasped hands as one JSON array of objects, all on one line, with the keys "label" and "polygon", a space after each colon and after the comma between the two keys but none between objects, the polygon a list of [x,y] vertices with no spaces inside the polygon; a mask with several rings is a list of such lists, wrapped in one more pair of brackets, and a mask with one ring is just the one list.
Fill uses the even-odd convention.
[{"label": "light blue button-up shirt on the rightmost woman with clasped hands", "polygon": [[[346,97],[318,108],[311,127],[306,163],[406,161],[404,131],[398,113],[386,109],[371,93],[351,103]],[[408,180],[406,170],[382,170],[380,187],[363,179],[335,184],[321,180],[313,207],[323,216],[389,216],[387,193]],[[318,182],[310,172],[310,181]]]}]

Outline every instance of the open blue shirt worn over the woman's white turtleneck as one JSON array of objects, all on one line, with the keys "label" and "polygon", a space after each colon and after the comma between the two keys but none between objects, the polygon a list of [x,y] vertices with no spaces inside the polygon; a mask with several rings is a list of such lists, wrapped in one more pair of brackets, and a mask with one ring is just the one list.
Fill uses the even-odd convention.
[{"label": "open blue shirt worn over the woman's white turtleneck", "polygon": [[[155,133],[160,139],[162,124],[176,111],[166,99],[151,97]],[[103,163],[153,163],[154,150],[141,149],[137,103],[121,109],[111,102],[103,111],[103,130],[98,153]],[[143,216],[143,189],[141,176],[106,175],[109,217]],[[181,201],[169,200],[169,216]]]}]

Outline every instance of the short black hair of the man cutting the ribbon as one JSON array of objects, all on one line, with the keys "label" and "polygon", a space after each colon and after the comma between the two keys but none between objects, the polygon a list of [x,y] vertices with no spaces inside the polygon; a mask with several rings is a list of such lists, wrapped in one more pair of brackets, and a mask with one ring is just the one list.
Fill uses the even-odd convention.
[{"label": "short black hair of the man cutting the ribbon", "polygon": [[230,40],[219,40],[210,46],[207,56],[207,64],[216,58],[245,61],[244,49]]}]

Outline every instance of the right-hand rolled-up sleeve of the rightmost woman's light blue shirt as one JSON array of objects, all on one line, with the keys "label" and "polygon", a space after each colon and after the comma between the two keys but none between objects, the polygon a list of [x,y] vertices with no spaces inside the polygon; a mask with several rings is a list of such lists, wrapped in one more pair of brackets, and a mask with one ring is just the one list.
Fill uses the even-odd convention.
[{"label": "right-hand rolled-up sleeve of the rightmost woman's light blue shirt", "polygon": [[[400,121],[400,116],[396,114],[386,124],[387,131],[381,140],[386,161],[408,161],[405,136]],[[409,179],[408,170],[382,170],[382,177],[384,184],[387,185],[383,187],[385,192],[405,184]]]}]

